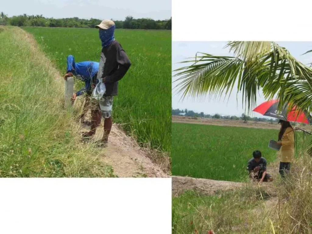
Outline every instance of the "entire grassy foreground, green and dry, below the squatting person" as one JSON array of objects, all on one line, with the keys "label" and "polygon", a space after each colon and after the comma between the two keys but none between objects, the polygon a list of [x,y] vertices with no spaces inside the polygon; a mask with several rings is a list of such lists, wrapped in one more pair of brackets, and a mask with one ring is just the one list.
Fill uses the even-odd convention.
[{"label": "entire grassy foreground, green and dry, below the squatting person", "polygon": [[[300,154],[285,180],[233,192],[173,197],[173,233],[312,233],[312,159]],[[196,232],[196,231],[197,232]]]}]

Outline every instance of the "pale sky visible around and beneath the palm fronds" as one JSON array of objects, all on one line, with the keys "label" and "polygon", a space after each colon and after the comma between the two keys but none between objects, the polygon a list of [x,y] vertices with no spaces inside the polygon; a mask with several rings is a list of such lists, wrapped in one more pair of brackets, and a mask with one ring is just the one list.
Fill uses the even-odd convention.
[{"label": "pale sky visible around and beneath the palm fronds", "polygon": [[[304,64],[312,62],[312,53],[302,55],[308,50],[312,49],[312,41],[310,42],[286,42],[286,41],[277,41],[280,46],[286,47],[290,53],[299,61]],[[172,69],[175,70],[181,65],[185,66],[186,64],[177,64],[180,61],[186,60],[188,57],[195,57],[196,52],[205,52],[212,55],[220,56],[233,56],[229,53],[228,48],[224,48],[227,42],[181,42],[173,41],[172,42]],[[174,74],[174,73],[173,73]],[[175,80],[176,78],[173,78]],[[172,87],[175,86],[173,83]],[[173,109],[188,109],[195,112],[204,112],[205,114],[221,114],[221,115],[237,115],[241,116],[245,112],[245,108],[242,106],[242,95],[238,95],[236,100],[237,88],[234,87],[230,98],[224,100],[193,100],[193,99],[184,99],[180,100],[181,96],[172,95],[172,108]],[[262,97],[262,93],[257,96],[257,105],[261,104],[265,99]],[[253,113],[251,116],[261,117],[262,115]]]}]

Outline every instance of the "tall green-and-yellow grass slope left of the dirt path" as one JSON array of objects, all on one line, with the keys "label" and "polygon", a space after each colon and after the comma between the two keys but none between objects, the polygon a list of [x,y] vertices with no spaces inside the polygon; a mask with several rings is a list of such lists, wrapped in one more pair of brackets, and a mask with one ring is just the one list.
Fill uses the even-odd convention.
[{"label": "tall green-and-yellow grass slope left of the dirt path", "polygon": [[0,41],[0,177],[114,176],[75,138],[64,81],[34,39],[2,27]]}]

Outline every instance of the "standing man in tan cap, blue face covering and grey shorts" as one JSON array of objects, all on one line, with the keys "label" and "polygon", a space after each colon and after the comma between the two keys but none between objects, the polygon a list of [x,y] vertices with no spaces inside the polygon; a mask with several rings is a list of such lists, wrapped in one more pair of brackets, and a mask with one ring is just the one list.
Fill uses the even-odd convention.
[{"label": "standing man in tan cap, blue face covering and grey shorts", "polygon": [[112,128],[112,108],[113,98],[118,95],[118,81],[124,77],[131,66],[131,62],[121,47],[115,40],[115,23],[111,20],[103,20],[99,25],[99,37],[102,42],[102,51],[98,71],[98,80],[102,79],[105,84],[105,94],[100,100],[92,99],[91,109],[91,129],[83,134],[84,137],[91,137],[95,134],[96,128],[101,122],[101,115],[104,119],[104,134],[100,141],[102,146],[107,146],[108,136]]}]

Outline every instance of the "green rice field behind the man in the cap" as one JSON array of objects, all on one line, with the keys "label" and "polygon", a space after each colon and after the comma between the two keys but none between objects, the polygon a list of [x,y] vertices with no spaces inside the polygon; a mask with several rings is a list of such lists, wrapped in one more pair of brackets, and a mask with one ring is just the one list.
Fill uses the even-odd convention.
[{"label": "green rice field behind the man in the cap", "polygon": [[[23,27],[32,33],[57,68],[66,73],[66,57],[99,61],[98,29]],[[170,151],[171,147],[171,31],[115,31],[132,66],[119,81],[113,121],[141,144]]]}]

